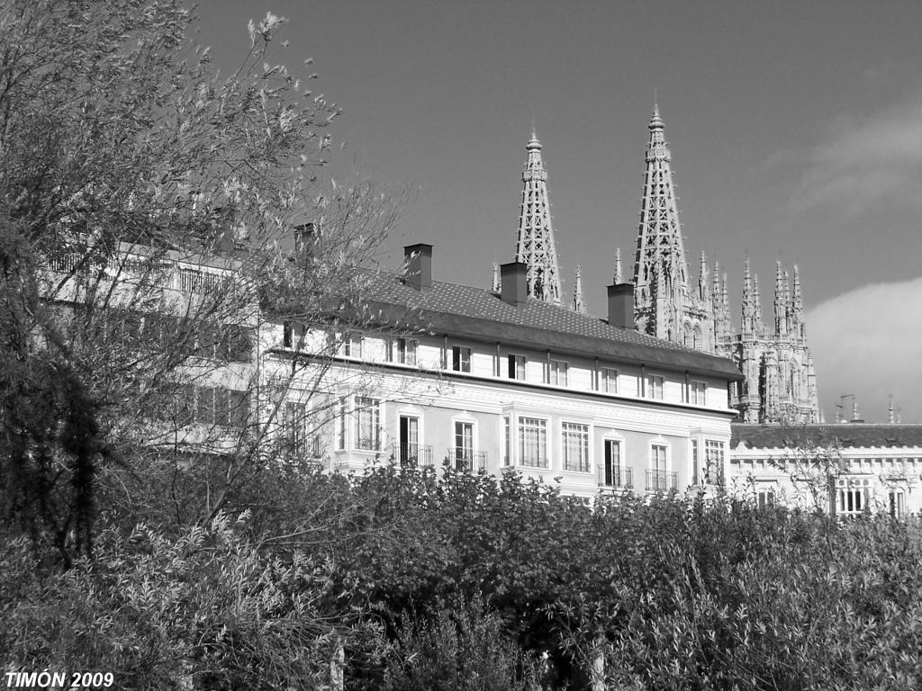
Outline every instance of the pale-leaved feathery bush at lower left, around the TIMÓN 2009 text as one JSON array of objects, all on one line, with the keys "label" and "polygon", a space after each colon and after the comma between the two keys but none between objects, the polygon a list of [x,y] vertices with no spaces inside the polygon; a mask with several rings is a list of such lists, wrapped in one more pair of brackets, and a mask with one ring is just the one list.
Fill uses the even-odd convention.
[{"label": "pale-leaved feathery bush at lower left, around the TIM\u00d3N 2009 text", "polygon": [[0,649],[21,669],[112,670],[126,689],[314,689],[338,645],[380,645],[338,611],[328,565],[261,555],[223,518],[179,539],[105,533],[92,563],[24,587],[27,555],[20,541],[0,557],[20,576]]}]

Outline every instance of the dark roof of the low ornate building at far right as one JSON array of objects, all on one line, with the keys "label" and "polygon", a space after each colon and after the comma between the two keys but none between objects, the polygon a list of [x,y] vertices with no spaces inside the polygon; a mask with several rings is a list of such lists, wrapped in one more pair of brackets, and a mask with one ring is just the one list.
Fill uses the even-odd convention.
[{"label": "dark roof of the low ornate building at far right", "polygon": [[730,426],[730,446],[745,444],[750,449],[784,449],[797,446],[838,445],[842,447],[922,447],[922,425],[836,423],[833,425],[746,425]]}]

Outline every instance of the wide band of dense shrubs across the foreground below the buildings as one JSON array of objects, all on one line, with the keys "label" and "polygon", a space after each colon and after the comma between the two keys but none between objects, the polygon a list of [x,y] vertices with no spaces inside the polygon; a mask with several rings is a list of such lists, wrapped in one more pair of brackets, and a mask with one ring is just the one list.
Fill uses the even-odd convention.
[{"label": "wide band of dense shrubs across the foreground below the buildings", "polygon": [[46,575],[7,541],[0,648],[22,668],[116,668],[125,688],[922,683],[915,520],[729,499],[589,509],[450,471],[303,482],[287,486],[309,532],[258,511],[175,536],[109,530],[93,561]]}]

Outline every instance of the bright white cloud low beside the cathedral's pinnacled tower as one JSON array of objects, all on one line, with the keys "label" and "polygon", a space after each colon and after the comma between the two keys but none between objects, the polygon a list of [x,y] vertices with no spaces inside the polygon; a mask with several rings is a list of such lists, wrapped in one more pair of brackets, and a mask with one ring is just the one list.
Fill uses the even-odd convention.
[{"label": "bright white cloud low beside the cathedral's pinnacled tower", "polygon": [[869,422],[887,421],[890,394],[903,422],[922,422],[922,277],[826,300],[808,312],[807,329],[827,422],[847,393]]}]

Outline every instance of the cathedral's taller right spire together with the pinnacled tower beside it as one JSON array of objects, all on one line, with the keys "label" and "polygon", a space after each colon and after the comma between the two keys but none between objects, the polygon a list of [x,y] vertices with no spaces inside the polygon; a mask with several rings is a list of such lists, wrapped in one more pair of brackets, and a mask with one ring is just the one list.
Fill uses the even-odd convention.
[{"label": "cathedral's taller right spire together with the pinnacled tower beside it", "polygon": [[[774,328],[762,322],[759,277],[746,260],[742,320],[734,333],[727,300],[727,275],[715,264],[708,279],[704,254],[692,286],[676,205],[675,185],[663,121],[655,106],[646,150],[644,197],[634,255],[634,322],[638,331],[730,357],[745,375],[730,392],[740,422],[820,422],[813,359],[804,330],[800,276],[793,286],[778,263],[774,282]],[[621,283],[621,251],[615,282]]]}]

